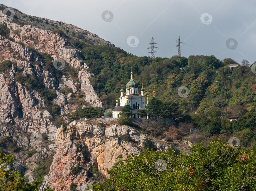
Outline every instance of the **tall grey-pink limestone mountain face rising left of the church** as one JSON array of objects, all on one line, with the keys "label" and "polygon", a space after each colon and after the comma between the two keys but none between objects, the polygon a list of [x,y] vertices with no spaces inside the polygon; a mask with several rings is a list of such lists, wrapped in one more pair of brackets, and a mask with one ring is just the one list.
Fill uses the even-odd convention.
[{"label": "tall grey-pink limestone mountain face rising left of the church", "polygon": [[[53,122],[53,117],[58,115],[59,121],[67,121],[67,115],[78,106],[68,101],[72,100],[78,91],[86,95],[82,98],[83,102],[94,107],[101,107],[102,103],[89,82],[88,78],[93,74],[86,71],[88,65],[83,63],[80,50],[75,47],[70,48],[74,45],[67,42],[60,34],[42,29],[40,25],[33,25],[33,22],[28,22],[30,25],[14,23],[15,18],[3,14],[4,5],[0,4],[0,7],[0,24],[9,30],[8,39],[0,35],[1,63],[9,63],[0,71],[0,120],[4,123],[4,126],[0,125],[0,138],[11,136],[17,142],[18,148],[26,152],[35,150],[36,153],[29,159],[32,164],[21,151],[15,153],[8,150],[10,154],[15,155],[15,162],[21,165],[17,165],[19,169],[27,165],[26,171],[22,173],[33,181],[32,170],[38,166],[35,162],[42,158],[47,159],[58,149],[56,133],[57,126],[60,125]],[[22,18],[28,18],[28,15],[25,16],[17,9],[13,10],[17,18],[22,17],[21,15]],[[61,24],[92,39],[98,39],[97,44],[107,45],[106,41],[93,33],[65,23]],[[72,71],[77,73],[71,75],[70,71],[67,71],[68,75],[58,77],[56,75],[58,69],[52,66],[56,59],[62,59],[65,67],[72,68]],[[51,96],[48,97],[49,99],[46,98],[51,94],[54,94],[54,98]],[[54,108],[49,104],[50,101],[58,105],[58,114],[52,114]],[[67,148],[72,150],[76,147]],[[74,164],[75,162],[73,161]]]}]

